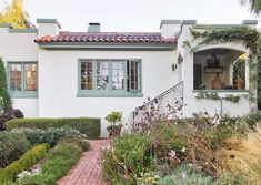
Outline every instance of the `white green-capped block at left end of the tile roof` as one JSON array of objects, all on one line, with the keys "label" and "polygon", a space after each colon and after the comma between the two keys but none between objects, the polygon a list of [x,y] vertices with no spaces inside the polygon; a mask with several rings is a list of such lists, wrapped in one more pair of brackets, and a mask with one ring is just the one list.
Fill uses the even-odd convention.
[{"label": "white green-capped block at left end of the tile roof", "polygon": [[57,19],[37,19],[38,23],[38,35],[44,37],[50,35],[54,37],[59,34],[61,29],[61,24],[57,21]]}]

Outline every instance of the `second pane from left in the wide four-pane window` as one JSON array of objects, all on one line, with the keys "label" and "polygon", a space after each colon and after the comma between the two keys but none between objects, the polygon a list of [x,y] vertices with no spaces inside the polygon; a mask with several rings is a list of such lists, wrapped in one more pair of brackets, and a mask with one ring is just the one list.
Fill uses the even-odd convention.
[{"label": "second pane from left in the wide four-pane window", "polygon": [[109,90],[109,62],[97,62],[97,89]]}]

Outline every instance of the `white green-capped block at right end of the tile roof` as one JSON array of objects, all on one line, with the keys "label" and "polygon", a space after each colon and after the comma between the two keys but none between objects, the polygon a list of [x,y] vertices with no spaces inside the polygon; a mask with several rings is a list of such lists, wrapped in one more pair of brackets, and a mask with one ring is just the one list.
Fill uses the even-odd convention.
[{"label": "white green-capped block at right end of the tile roof", "polygon": [[181,29],[181,20],[161,20],[160,33],[162,38],[177,38]]}]

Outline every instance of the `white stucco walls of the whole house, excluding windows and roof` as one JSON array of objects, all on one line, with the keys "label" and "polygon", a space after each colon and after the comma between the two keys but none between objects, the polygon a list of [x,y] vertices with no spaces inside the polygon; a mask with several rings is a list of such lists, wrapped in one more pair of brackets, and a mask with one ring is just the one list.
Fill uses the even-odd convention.
[{"label": "white stucco walls of the whole house, excluding windows and roof", "polygon": [[[174,22],[174,21],[173,21]],[[192,47],[200,40],[193,40],[189,28],[192,24],[183,24],[180,31],[179,23],[163,24],[163,37],[174,37],[181,33],[178,48],[173,51],[93,51],[93,50],[44,50],[34,43],[40,35],[54,35],[59,31],[56,22],[40,23],[39,35],[37,33],[12,33],[9,28],[0,27],[0,56],[7,61],[38,61],[39,95],[38,99],[13,99],[13,105],[21,109],[27,117],[101,117],[102,136],[106,135],[108,123],[104,116],[111,111],[122,111],[123,121],[128,122],[129,114],[138,106],[158,96],[180,81],[184,83],[184,116],[193,113],[208,112],[210,115],[220,113],[220,102],[213,100],[195,99],[193,92],[193,53],[183,47],[183,41],[189,41]],[[227,48],[249,53],[245,47],[238,43],[204,45],[200,50],[211,48]],[[183,56],[183,62],[178,64],[178,54]],[[141,59],[142,61],[142,93],[143,97],[77,97],[78,93],[78,62],[79,59]],[[172,64],[177,69],[172,71]],[[227,73],[229,74],[229,70]],[[247,65],[245,88],[249,89]],[[233,92],[234,95],[247,94]],[[224,96],[225,93],[219,93]],[[250,102],[241,97],[239,103],[223,101],[223,114],[243,115],[251,109]]]}]

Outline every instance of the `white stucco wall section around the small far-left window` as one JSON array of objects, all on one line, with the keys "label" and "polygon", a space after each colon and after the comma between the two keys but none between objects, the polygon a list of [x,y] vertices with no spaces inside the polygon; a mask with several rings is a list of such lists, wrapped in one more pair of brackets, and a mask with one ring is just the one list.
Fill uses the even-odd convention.
[{"label": "white stucco wall section around the small far-left window", "polygon": [[[9,28],[0,28],[0,58],[7,61],[37,61],[38,45],[34,43],[37,33],[13,33]],[[12,99],[13,107],[21,109],[24,116],[38,116],[38,99]]]}]

